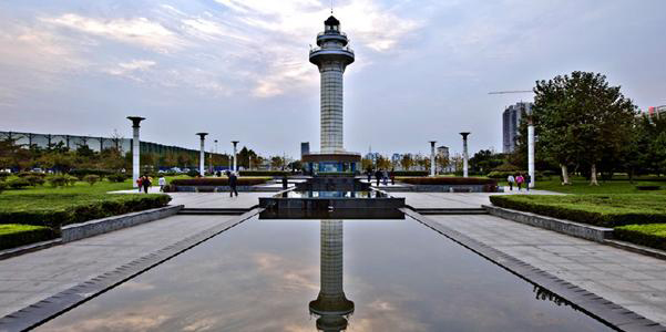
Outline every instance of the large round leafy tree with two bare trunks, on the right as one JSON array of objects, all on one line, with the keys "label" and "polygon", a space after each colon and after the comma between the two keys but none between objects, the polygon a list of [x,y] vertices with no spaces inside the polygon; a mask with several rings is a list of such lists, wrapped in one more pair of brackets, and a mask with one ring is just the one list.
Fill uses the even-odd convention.
[{"label": "large round leafy tree with two bare trunks, on the right", "polygon": [[537,81],[532,120],[539,143],[562,168],[568,184],[568,165],[590,167],[590,184],[598,185],[597,165],[606,155],[619,155],[629,143],[636,106],[609,86],[598,73],[573,72]]}]

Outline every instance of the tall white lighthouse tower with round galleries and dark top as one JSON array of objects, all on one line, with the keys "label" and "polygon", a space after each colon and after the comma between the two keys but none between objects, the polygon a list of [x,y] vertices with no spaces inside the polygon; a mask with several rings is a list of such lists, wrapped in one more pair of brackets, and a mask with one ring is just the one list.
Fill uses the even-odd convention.
[{"label": "tall white lighthouse tower with round galleries and dark top", "polygon": [[344,74],[355,60],[348,43],[340,21],[331,15],[317,34],[318,48],[310,50],[310,62],[319,68],[321,77],[321,145],[319,153],[304,155],[303,159],[315,173],[355,172],[360,163],[360,154],[346,152],[344,145]]}]

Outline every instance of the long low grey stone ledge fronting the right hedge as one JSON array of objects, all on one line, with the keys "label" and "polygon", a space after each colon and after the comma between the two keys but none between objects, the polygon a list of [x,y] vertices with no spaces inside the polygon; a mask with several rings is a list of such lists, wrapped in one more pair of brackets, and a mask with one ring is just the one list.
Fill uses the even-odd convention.
[{"label": "long low grey stone ledge fronting the right hedge", "polygon": [[583,238],[602,243],[604,240],[613,238],[613,228],[578,224],[552,217],[544,217],[531,212],[505,209],[496,206],[484,205],[482,207],[486,209],[489,214],[500,218],[554,230],[556,232],[565,234],[576,238]]}]

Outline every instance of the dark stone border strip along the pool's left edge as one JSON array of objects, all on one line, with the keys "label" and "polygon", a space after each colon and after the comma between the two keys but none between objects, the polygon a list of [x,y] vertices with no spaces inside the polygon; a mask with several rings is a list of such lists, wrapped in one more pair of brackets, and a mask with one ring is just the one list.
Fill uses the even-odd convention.
[{"label": "dark stone border strip along the pool's left edge", "polygon": [[259,214],[254,209],[0,319],[0,331],[32,330]]}]

